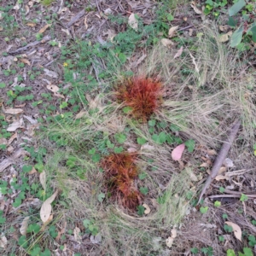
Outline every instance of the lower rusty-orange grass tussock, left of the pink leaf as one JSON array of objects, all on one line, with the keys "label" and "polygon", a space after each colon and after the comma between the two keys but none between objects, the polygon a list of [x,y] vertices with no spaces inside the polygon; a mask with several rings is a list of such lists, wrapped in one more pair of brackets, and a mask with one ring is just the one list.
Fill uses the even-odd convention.
[{"label": "lower rusty-orange grass tussock, left of the pink leaf", "polygon": [[135,209],[141,201],[142,195],[135,186],[138,176],[135,164],[137,154],[110,154],[103,158],[101,166],[105,171],[105,179],[112,196],[124,207]]}]

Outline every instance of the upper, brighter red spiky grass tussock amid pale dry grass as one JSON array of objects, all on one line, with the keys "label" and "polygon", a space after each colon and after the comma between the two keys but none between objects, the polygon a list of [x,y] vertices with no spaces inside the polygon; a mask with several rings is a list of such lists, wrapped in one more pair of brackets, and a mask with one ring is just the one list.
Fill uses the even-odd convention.
[{"label": "upper, brighter red spiky grass tussock amid pale dry grass", "polygon": [[116,86],[116,97],[126,107],[131,107],[134,118],[146,122],[160,108],[162,84],[157,79],[143,77],[125,79]]}]

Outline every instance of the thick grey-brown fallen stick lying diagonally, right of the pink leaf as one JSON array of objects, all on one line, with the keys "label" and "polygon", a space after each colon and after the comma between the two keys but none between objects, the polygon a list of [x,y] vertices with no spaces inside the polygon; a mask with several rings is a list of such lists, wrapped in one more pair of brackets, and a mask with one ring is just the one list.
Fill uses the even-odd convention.
[{"label": "thick grey-brown fallen stick lying diagonally, right of the pink leaf", "polygon": [[202,196],[206,193],[208,187],[210,186],[210,184],[212,183],[212,180],[217,176],[218,174],[218,170],[220,169],[220,167],[222,166],[227,154],[230,151],[230,147],[236,137],[236,134],[238,132],[238,129],[241,125],[241,120],[237,120],[235,125],[233,125],[233,127],[231,128],[230,131],[230,136],[227,138],[227,140],[223,143],[218,156],[216,157],[216,160],[214,161],[214,164],[212,166],[212,172],[209,175],[209,177],[207,178],[207,181],[203,187],[203,189],[201,190],[201,194],[199,196],[199,200],[197,202],[197,204],[200,203]]}]

